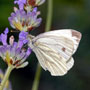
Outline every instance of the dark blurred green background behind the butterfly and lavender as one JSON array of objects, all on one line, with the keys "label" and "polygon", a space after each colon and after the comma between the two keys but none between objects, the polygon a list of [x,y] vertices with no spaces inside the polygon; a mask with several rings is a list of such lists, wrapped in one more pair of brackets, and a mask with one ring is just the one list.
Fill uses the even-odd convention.
[{"label": "dark blurred green background behind the butterfly and lavender", "polygon": [[[13,11],[14,0],[0,0],[0,32],[5,27],[12,29],[8,17]],[[82,40],[77,52],[73,55],[74,67],[62,77],[52,77],[42,70],[38,90],[90,90],[90,0],[53,0],[52,30],[75,29],[82,32]],[[32,33],[38,35],[45,30],[47,15],[46,3],[39,7],[43,22]],[[13,90],[31,90],[37,66],[34,53],[28,58],[30,64],[24,69],[13,70],[10,76]],[[7,65],[0,58],[0,68],[4,71]]]}]

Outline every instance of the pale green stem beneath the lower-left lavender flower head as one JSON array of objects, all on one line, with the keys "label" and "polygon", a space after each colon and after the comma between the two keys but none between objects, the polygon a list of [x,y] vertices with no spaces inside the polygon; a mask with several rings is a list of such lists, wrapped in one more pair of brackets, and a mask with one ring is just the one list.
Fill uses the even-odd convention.
[{"label": "pale green stem beneath the lower-left lavender flower head", "polygon": [[4,76],[4,78],[3,78],[3,80],[2,80],[2,82],[0,84],[0,90],[4,89],[5,84],[6,84],[7,80],[8,80],[8,78],[9,78],[9,75],[10,75],[12,70],[13,70],[13,67],[12,66],[8,66],[7,71],[5,73],[5,76]]}]

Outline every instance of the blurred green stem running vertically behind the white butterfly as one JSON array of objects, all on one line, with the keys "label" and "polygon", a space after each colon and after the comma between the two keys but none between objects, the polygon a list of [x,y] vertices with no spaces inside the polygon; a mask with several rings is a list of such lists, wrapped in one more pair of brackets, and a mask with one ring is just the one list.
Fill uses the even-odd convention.
[{"label": "blurred green stem running vertically behind the white butterfly", "polygon": [[[53,13],[53,0],[48,0],[48,14],[47,14],[45,32],[48,32],[51,28],[52,13]],[[38,63],[32,90],[38,90],[40,75],[41,75],[41,66]]]}]

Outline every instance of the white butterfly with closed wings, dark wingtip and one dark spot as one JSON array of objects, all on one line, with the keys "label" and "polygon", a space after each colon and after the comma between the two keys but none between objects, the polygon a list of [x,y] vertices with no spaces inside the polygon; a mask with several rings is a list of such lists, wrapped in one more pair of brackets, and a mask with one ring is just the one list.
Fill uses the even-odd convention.
[{"label": "white butterfly with closed wings, dark wingtip and one dark spot", "polygon": [[40,65],[53,76],[62,76],[74,65],[72,55],[76,52],[81,33],[64,29],[29,35],[29,46],[36,54]]}]

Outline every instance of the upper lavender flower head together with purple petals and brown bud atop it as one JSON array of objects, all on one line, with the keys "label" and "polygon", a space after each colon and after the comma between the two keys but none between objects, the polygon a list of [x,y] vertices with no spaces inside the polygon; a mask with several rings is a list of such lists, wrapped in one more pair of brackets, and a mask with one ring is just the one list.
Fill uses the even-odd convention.
[{"label": "upper lavender flower head together with purple petals and brown bud atop it", "polygon": [[38,18],[40,11],[37,6],[43,4],[45,0],[15,0],[19,9],[14,7],[14,12],[8,18],[11,27],[20,31],[31,31],[38,27],[42,18]]}]

